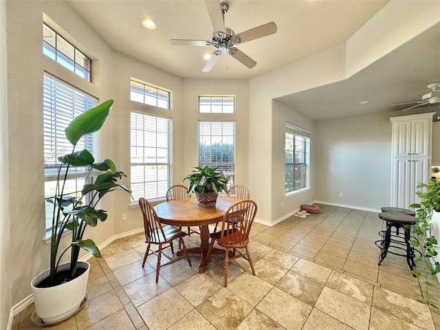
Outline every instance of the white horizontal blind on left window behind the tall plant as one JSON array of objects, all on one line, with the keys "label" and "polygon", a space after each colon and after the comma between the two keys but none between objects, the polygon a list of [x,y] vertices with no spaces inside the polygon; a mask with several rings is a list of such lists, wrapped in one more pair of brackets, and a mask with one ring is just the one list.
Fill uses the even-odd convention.
[{"label": "white horizontal blind on left window behind the tall plant", "polygon": [[[43,132],[46,176],[56,175],[56,168],[60,164],[57,157],[72,153],[72,144],[66,139],[64,131],[69,122],[96,104],[96,98],[49,74],[44,75]],[[87,148],[94,157],[98,157],[98,134],[83,137],[78,142],[76,151],[83,148]],[[76,171],[85,171],[85,168],[76,168]]]}]

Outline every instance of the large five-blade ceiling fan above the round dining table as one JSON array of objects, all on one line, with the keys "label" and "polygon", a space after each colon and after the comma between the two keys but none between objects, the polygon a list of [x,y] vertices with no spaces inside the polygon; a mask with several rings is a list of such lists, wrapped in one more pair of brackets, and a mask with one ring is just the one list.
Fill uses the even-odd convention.
[{"label": "large five-blade ceiling fan above the round dining table", "polygon": [[228,12],[229,5],[227,3],[220,3],[218,0],[205,0],[206,9],[214,28],[212,33],[212,40],[190,40],[190,39],[170,39],[172,45],[189,45],[189,46],[214,46],[217,50],[214,50],[212,56],[203,67],[203,72],[210,72],[214,64],[219,59],[219,56],[223,52],[228,52],[230,56],[237,61],[249,67],[250,69],[256,65],[256,62],[252,60],[248,55],[241,52],[234,45],[241,45],[248,41],[261,38],[262,36],[268,36],[276,32],[276,24],[274,22],[259,25],[256,28],[234,34],[230,28],[225,27],[225,14]]}]

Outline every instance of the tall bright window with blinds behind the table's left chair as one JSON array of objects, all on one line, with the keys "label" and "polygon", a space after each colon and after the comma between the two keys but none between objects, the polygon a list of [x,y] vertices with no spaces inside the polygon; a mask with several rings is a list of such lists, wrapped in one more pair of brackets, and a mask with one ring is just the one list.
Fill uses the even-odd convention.
[{"label": "tall bright window with blinds behind the table's left chair", "polygon": [[131,113],[131,190],[140,197],[165,197],[173,182],[173,122],[167,118]]}]

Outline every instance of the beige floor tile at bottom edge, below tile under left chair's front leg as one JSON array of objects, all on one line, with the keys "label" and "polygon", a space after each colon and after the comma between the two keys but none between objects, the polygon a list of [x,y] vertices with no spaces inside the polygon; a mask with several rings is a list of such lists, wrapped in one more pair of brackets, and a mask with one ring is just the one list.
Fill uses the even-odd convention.
[{"label": "beige floor tile at bottom edge, below tile under left chair's front leg", "polygon": [[168,329],[192,309],[194,307],[173,287],[137,307],[142,320],[150,330]]}]

